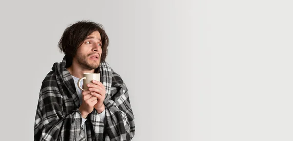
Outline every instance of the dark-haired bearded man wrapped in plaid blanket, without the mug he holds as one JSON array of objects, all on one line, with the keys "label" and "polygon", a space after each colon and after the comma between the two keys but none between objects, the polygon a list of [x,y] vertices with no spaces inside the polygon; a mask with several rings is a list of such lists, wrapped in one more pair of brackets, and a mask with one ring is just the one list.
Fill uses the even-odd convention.
[{"label": "dark-haired bearded man wrapped in plaid blanket, without the mug he holds", "polygon": [[[65,54],[42,82],[35,141],[130,141],[135,133],[128,89],[105,62],[109,40],[101,24],[79,21],[59,41]],[[100,73],[81,91],[83,73]]]}]

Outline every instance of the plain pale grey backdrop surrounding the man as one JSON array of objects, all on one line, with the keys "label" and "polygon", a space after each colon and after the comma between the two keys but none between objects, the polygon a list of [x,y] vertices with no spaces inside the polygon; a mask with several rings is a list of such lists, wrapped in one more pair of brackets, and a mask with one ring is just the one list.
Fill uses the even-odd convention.
[{"label": "plain pale grey backdrop surrounding the man", "polygon": [[92,20],[129,88],[133,141],[292,141],[290,0],[1,1],[1,139],[32,141],[69,25]]}]

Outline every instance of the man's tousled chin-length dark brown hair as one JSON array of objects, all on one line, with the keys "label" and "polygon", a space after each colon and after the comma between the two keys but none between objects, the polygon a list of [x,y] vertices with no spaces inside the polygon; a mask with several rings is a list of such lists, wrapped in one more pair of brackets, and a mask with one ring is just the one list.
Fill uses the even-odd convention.
[{"label": "man's tousled chin-length dark brown hair", "polygon": [[102,40],[102,54],[101,61],[104,61],[107,57],[109,38],[106,34],[102,24],[91,22],[89,20],[78,21],[75,24],[68,26],[61,39],[58,42],[60,51],[66,55],[66,66],[69,67],[72,64],[73,57],[76,55],[77,48],[80,47],[85,38],[98,31]]}]

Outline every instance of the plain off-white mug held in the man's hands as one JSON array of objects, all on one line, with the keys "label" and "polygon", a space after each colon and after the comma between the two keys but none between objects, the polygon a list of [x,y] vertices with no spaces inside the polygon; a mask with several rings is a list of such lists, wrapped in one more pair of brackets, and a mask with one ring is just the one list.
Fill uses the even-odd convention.
[{"label": "plain off-white mug held in the man's hands", "polygon": [[[92,83],[93,80],[100,81],[100,73],[84,73],[83,76],[84,76],[83,78],[80,78],[77,81],[78,88],[83,90],[83,91],[88,89],[87,84],[93,84]],[[81,86],[80,86],[80,83],[81,83],[82,80],[84,80],[83,81],[84,89],[81,88]]]}]

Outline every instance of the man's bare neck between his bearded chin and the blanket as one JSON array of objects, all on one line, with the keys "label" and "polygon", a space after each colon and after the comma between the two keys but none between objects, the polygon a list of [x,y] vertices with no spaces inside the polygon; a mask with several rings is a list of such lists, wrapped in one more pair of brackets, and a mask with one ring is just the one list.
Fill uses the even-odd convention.
[{"label": "man's bare neck between his bearded chin and the blanket", "polygon": [[70,72],[70,74],[77,78],[82,78],[84,73],[94,73],[95,69],[88,70],[82,68],[79,64],[72,63],[70,67],[67,68],[67,70]]}]

